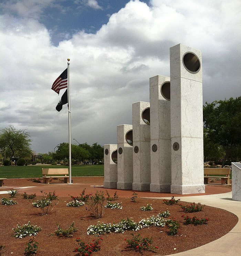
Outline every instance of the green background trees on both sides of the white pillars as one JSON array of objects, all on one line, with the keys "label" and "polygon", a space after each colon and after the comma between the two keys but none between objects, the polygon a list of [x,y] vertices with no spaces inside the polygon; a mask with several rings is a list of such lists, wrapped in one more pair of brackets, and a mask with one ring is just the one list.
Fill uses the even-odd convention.
[{"label": "green background trees on both sides of the white pillars", "polygon": [[[203,106],[203,149],[205,161],[219,161],[224,166],[227,161],[241,160],[241,96],[213,101]],[[0,162],[23,158],[26,163],[32,158],[31,137],[26,130],[13,126],[0,132]],[[73,163],[96,163],[103,160],[103,146],[94,143],[71,145]],[[56,152],[39,154],[41,163],[63,161],[68,164],[69,144],[62,142]],[[220,162],[221,160],[221,162]]]}]

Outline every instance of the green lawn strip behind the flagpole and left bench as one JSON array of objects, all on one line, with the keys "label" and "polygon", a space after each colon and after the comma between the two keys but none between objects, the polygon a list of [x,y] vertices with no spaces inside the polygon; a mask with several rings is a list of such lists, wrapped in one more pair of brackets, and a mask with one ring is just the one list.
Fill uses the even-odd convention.
[{"label": "green lawn strip behind the flagpole and left bench", "polygon": [[[42,168],[68,168],[63,165],[0,166],[0,178],[42,177]],[[104,176],[104,165],[72,165],[72,176]]]}]

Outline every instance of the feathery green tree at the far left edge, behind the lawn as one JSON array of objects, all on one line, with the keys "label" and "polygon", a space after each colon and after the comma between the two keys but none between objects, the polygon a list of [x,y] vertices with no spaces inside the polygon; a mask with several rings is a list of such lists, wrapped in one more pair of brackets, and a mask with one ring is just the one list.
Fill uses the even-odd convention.
[{"label": "feathery green tree at the far left edge, behind the lawn", "polygon": [[0,149],[3,159],[26,158],[32,155],[31,139],[25,130],[17,130],[13,126],[4,128],[0,133]]}]

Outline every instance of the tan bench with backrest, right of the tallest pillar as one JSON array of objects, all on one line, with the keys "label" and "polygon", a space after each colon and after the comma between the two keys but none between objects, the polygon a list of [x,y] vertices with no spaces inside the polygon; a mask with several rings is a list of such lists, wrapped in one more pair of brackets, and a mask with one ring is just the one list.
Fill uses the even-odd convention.
[{"label": "tan bench with backrest, right of the tallest pillar", "polygon": [[[208,184],[208,179],[221,178],[221,184],[230,184],[231,168],[204,168],[204,183]],[[225,176],[215,176],[225,175]]]}]

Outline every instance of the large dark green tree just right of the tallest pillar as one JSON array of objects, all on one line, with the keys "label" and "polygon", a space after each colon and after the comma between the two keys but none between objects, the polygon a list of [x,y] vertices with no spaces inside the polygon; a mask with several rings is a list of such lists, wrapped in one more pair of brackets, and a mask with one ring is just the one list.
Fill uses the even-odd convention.
[{"label": "large dark green tree just right of the tallest pillar", "polygon": [[231,152],[241,145],[241,96],[213,101],[203,106],[203,122],[209,140],[223,147],[222,167]]}]

